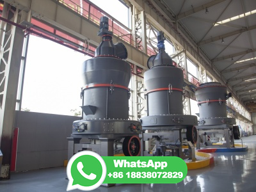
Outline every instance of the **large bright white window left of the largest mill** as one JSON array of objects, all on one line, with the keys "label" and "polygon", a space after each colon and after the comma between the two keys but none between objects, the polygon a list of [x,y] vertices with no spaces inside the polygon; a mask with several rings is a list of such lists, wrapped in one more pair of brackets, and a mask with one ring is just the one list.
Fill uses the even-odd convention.
[{"label": "large bright white window left of the largest mill", "polygon": [[[75,115],[81,109],[81,64],[90,58],[44,38],[30,35],[22,109]],[[74,110],[73,112],[70,110]]]}]

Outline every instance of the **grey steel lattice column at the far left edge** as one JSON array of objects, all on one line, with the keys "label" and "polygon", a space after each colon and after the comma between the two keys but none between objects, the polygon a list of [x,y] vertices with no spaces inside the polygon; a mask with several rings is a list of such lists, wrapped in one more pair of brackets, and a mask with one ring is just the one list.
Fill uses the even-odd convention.
[{"label": "grey steel lattice column at the far left edge", "polygon": [[[3,17],[19,23],[19,10],[4,3],[4,9],[6,9],[6,6],[8,6],[8,13],[3,15]],[[10,179],[13,124],[15,120],[15,104],[24,31],[3,21],[1,22],[1,26],[4,29],[0,52],[0,147],[3,152],[1,178]]]}]

